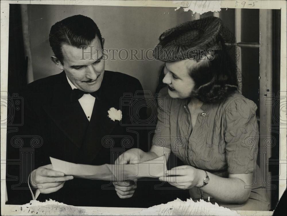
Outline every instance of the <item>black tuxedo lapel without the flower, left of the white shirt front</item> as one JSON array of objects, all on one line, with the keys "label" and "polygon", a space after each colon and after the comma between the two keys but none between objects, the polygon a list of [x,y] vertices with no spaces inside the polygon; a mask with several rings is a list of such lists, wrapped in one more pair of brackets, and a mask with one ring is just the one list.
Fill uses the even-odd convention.
[{"label": "black tuxedo lapel without the flower, left of the white shirt front", "polygon": [[80,149],[89,122],[79,101],[70,101],[72,88],[65,72],[59,76],[59,82],[53,87],[51,99],[43,108],[67,138]]}]

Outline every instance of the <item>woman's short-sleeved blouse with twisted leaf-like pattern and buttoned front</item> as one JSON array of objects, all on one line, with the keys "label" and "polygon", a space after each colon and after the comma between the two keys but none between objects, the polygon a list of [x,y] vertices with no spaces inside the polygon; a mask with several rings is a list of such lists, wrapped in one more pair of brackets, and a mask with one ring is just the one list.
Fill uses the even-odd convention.
[{"label": "woman's short-sleeved blouse with twisted leaf-like pattern and buttoned front", "polygon": [[167,88],[160,93],[165,103],[159,104],[153,144],[170,148],[186,165],[195,168],[228,170],[230,174],[253,172],[253,150],[259,139],[253,101],[234,93],[224,103],[203,104],[192,128],[188,99],[172,99]]}]

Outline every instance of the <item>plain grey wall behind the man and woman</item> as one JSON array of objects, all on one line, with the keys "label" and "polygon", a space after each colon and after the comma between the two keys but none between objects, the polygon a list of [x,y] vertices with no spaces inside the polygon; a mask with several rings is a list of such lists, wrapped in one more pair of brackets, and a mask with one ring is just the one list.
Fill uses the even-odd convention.
[{"label": "plain grey wall behind the man and woman", "polygon": [[[105,38],[105,49],[153,49],[165,30],[193,19],[192,12],[167,7],[113,7],[76,5],[28,5],[34,80],[61,72],[50,60],[50,28],[57,21],[76,14],[92,18]],[[125,57],[125,52],[122,53]],[[149,52],[149,57],[152,52]],[[117,55],[115,55],[117,58]],[[154,93],[160,61],[106,61],[106,70],[136,77],[144,90]]]}]

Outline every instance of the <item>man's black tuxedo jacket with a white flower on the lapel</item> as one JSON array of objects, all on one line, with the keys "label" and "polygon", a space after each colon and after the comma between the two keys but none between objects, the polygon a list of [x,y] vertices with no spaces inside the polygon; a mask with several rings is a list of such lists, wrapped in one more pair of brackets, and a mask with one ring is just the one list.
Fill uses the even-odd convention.
[{"label": "man's black tuxedo jacket with a white flower on the lapel", "polygon": [[[7,180],[8,203],[23,204],[32,199],[27,190],[28,174],[37,167],[50,164],[50,156],[72,163],[102,165],[114,163],[122,152],[130,148],[139,147],[147,151],[146,136],[139,137],[144,131],[127,131],[127,125],[133,128],[131,123],[134,118],[131,115],[146,118],[146,106],[131,114],[131,103],[128,103],[135,99],[131,95],[135,96],[141,90],[137,79],[119,72],[105,71],[98,90],[99,99],[95,101],[89,122],[79,102],[70,101],[72,88],[64,71],[30,83],[21,94],[24,111],[19,118],[24,117],[23,126],[18,128],[18,132],[7,134],[8,161],[16,157],[22,160],[20,166],[12,168],[7,162],[7,179],[10,179]],[[124,94],[128,95],[121,100]],[[141,98],[142,94],[137,94],[136,100]],[[127,103],[121,105],[123,99]],[[108,117],[111,107],[121,109],[121,122],[114,122]],[[20,147],[15,144],[17,138],[22,140]],[[18,180],[11,180],[13,177]],[[77,206],[139,206],[136,197],[120,199],[111,182],[80,178],[65,182],[57,192],[40,194],[38,200],[49,198]]]}]

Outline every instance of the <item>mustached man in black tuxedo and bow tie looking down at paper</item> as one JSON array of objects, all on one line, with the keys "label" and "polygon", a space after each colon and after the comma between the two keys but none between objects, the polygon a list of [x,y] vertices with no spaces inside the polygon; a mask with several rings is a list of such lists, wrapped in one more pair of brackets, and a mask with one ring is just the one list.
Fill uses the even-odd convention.
[{"label": "mustached man in black tuxedo and bow tie looking down at paper", "polygon": [[[123,182],[123,189],[115,191],[111,182],[73,178],[54,171],[49,157],[72,163],[102,165],[114,163],[127,149],[142,148],[137,141],[144,140],[144,137],[139,137],[141,133],[128,132],[125,126],[131,125],[130,107],[121,106],[121,97],[125,93],[134,96],[142,91],[140,82],[126,74],[105,70],[101,52],[104,38],[96,23],[86,16],[71,16],[54,24],[49,42],[55,54],[51,60],[63,72],[28,84],[21,94],[24,124],[19,127],[16,136],[21,139],[36,137],[38,146],[34,145],[33,159],[24,162],[27,169],[10,172],[24,176],[30,174],[32,193],[39,188],[41,193],[37,200],[40,201],[51,198],[77,206],[137,207],[137,198],[122,199],[133,196],[134,190],[125,192],[124,188],[135,187],[135,182]],[[113,107],[121,109],[120,121],[108,117],[108,110]],[[143,108],[136,115],[145,119],[146,110]],[[8,154],[10,149],[13,152],[11,155],[19,155],[13,145],[15,134],[9,136]],[[125,143],[124,139],[128,142]],[[22,149],[32,141],[24,140],[23,143]],[[145,147],[142,149],[148,150]],[[14,190],[13,183],[7,181],[8,203],[29,202],[33,195],[27,189],[21,190],[28,188],[28,184],[25,185],[27,182],[22,182],[24,187]]]}]

